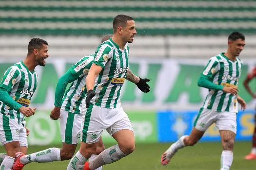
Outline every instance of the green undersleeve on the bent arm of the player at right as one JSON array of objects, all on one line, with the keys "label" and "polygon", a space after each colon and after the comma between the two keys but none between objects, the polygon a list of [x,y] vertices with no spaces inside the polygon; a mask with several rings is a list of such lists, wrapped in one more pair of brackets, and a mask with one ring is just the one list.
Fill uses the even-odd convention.
[{"label": "green undersleeve on the bent arm of the player at right", "polygon": [[201,76],[199,77],[197,85],[200,87],[205,87],[205,88],[214,89],[214,90],[222,90],[223,89],[223,85],[214,84],[211,81],[211,78],[204,74],[201,74]]}]

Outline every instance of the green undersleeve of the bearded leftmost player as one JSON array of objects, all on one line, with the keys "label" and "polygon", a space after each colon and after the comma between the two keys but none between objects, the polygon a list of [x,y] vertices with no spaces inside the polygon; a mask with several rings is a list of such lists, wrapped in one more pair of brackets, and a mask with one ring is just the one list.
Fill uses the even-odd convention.
[{"label": "green undersleeve of the bearded leftmost player", "polygon": [[9,106],[11,109],[19,111],[20,105],[18,102],[15,102],[13,98],[8,93],[8,90],[5,88],[0,87],[0,101],[2,101],[4,104]]}]

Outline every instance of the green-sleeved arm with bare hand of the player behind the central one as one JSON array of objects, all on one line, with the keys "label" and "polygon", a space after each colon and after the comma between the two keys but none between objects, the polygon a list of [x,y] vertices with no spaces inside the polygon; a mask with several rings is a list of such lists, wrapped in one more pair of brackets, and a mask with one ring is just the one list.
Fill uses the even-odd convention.
[{"label": "green-sleeved arm with bare hand of the player behind the central one", "polygon": [[59,78],[59,81],[57,83],[56,90],[55,90],[55,101],[54,101],[55,107],[53,108],[50,114],[51,119],[54,119],[54,120],[59,119],[61,101],[64,96],[66,87],[69,83],[72,83],[77,79],[78,77],[74,76],[70,72],[70,70],[68,70],[63,76]]}]

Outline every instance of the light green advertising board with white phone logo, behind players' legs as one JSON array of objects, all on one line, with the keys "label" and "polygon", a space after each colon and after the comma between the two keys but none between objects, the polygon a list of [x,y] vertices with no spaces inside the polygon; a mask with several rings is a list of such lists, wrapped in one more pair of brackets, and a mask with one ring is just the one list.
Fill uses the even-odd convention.
[{"label": "light green advertising board with white phone logo, behind players' legs", "polygon": [[[153,112],[127,112],[135,133],[137,143],[157,142],[157,119]],[[59,120],[49,118],[50,111],[37,111],[35,115],[26,119],[26,126],[30,130],[29,145],[49,145],[61,143]],[[115,140],[103,131],[104,143],[114,143]]]}]

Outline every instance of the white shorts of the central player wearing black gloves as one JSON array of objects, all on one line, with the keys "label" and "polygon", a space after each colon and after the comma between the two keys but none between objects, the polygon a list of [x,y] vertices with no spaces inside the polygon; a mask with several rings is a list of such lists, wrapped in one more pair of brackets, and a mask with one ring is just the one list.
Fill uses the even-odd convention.
[{"label": "white shorts of the central player wearing black gloves", "polygon": [[132,123],[122,107],[109,109],[90,103],[88,109],[83,109],[82,112],[85,114],[82,120],[81,140],[85,143],[98,142],[105,129],[111,136],[122,129],[133,131]]}]

